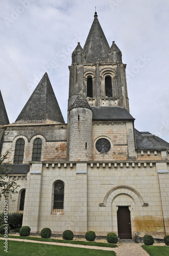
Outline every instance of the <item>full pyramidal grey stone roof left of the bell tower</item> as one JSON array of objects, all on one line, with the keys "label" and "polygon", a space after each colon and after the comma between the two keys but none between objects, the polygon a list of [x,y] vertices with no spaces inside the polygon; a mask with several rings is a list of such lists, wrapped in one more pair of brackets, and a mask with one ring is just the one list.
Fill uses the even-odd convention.
[{"label": "full pyramidal grey stone roof left of the bell tower", "polygon": [[49,77],[45,73],[16,122],[46,123],[48,121],[65,123]]}]

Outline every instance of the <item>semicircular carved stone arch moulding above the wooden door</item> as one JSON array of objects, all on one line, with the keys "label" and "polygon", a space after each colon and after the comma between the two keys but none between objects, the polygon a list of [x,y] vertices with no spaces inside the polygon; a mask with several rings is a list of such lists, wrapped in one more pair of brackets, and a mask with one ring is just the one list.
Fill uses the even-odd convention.
[{"label": "semicircular carved stone arch moulding above the wooden door", "polygon": [[107,194],[103,200],[103,203],[100,203],[99,206],[102,206],[102,207],[110,206],[112,204],[112,202],[115,200],[115,198],[118,197],[119,195],[129,196],[134,201],[135,205],[141,204],[142,206],[148,206],[148,203],[145,203],[143,201],[143,198],[138,193],[138,191],[136,189],[134,189],[133,187],[130,187],[127,185],[120,185],[120,186],[111,188],[107,192]]}]

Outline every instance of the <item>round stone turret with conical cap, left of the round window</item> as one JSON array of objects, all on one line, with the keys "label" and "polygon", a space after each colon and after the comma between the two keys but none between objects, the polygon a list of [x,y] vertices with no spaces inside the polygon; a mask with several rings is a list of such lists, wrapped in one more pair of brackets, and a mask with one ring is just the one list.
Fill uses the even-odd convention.
[{"label": "round stone turret with conical cap, left of the round window", "polygon": [[80,91],[70,110],[69,161],[92,160],[92,110]]}]

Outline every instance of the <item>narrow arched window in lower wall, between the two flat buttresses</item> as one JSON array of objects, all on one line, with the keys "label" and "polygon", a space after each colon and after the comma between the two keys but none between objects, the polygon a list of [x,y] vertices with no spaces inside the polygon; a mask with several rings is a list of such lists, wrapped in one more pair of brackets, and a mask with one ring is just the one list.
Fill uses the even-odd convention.
[{"label": "narrow arched window in lower wall, between the two flat buttresses", "polygon": [[64,183],[57,181],[54,185],[54,212],[63,212],[64,208]]}]

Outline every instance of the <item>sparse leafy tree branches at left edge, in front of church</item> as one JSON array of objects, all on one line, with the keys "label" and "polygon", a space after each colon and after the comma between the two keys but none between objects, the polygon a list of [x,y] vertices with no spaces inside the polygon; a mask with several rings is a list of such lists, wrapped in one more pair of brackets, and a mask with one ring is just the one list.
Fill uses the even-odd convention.
[{"label": "sparse leafy tree branches at left edge, in front of church", "polygon": [[18,193],[16,189],[19,187],[15,182],[16,180],[8,181],[8,175],[12,173],[14,165],[9,165],[9,162],[5,162],[7,155],[8,152],[0,156],[0,200],[2,196],[5,198],[10,196],[12,200],[12,195]]}]

